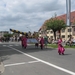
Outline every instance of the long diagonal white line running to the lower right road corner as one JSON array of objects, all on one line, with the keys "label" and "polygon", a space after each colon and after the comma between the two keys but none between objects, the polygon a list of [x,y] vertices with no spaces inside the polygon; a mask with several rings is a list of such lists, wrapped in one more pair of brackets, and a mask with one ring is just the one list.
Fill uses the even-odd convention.
[{"label": "long diagonal white line running to the lower right road corner", "polygon": [[[9,47],[9,46],[8,46],[8,47]],[[42,62],[42,63],[44,63],[44,64],[46,64],[46,65],[52,66],[52,67],[54,67],[54,68],[56,68],[56,69],[58,69],[58,70],[61,70],[61,71],[63,71],[63,72],[66,72],[66,73],[68,73],[68,74],[71,74],[71,75],[75,75],[75,72],[72,72],[72,71],[70,71],[70,70],[64,69],[64,68],[62,68],[62,67],[59,67],[59,66],[57,66],[57,65],[54,65],[54,64],[49,63],[49,62],[47,62],[47,61],[44,61],[44,60],[42,60],[42,59],[36,58],[36,57],[34,57],[34,56],[32,56],[32,55],[29,55],[29,54],[27,54],[27,53],[24,53],[24,52],[22,52],[22,51],[20,51],[20,50],[18,50],[18,49],[13,48],[13,47],[9,47],[9,48],[11,48],[11,49],[13,49],[13,50],[15,50],[15,51],[18,51],[18,52],[20,52],[20,53],[22,53],[22,54],[24,54],[24,55],[26,55],[26,56],[28,56],[28,57],[31,57],[31,58],[33,58],[33,59],[35,59],[35,60],[37,60],[37,61],[40,61],[40,62]]]}]

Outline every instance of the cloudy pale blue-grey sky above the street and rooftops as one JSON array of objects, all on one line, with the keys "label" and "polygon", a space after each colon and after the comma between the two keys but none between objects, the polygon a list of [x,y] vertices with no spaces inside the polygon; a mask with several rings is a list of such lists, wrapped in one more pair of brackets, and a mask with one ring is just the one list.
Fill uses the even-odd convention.
[{"label": "cloudy pale blue-grey sky above the street and rooftops", "polygon": [[[75,0],[71,0],[71,11],[75,11]],[[38,31],[55,13],[66,13],[66,0],[0,0],[0,31]]]}]

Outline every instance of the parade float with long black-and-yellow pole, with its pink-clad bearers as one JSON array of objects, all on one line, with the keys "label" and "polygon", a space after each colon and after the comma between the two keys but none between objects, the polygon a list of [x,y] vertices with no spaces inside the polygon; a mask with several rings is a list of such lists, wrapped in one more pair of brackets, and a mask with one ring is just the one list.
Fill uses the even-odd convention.
[{"label": "parade float with long black-and-yellow pole, with its pink-clad bearers", "polygon": [[46,45],[47,45],[48,41],[47,41],[47,39],[44,40],[43,37],[38,37],[38,36],[35,36],[35,34],[21,32],[21,31],[14,30],[14,29],[10,29],[10,31],[14,32],[14,33],[18,33],[18,35],[20,37],[22,48],[26,49],[28,44],[33,44],[35,46],[35,48],[40,47],[41,49],[43,49],[45,41],[46,41]]}]

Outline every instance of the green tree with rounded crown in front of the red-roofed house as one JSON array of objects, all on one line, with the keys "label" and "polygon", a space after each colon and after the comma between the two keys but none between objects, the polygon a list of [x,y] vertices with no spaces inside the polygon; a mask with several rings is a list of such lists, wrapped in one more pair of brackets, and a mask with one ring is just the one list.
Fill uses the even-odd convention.
[{"label": "green tree with rounded crown in front of the red-roofed house", "polygon": [[[48,30],[50,30],[50,29],[53,30],[54,38],[56,40],[56,31],[59,31],[59,34],[60,34],[61,29],[65,28],[66,24],[63,20],[59,20],[55,17],[55,18],[51,18],[50,20],[48,20],[46,22],[46,26],[47,26]],[[59,35],[59,37],[60,37],[60,35]]]}]

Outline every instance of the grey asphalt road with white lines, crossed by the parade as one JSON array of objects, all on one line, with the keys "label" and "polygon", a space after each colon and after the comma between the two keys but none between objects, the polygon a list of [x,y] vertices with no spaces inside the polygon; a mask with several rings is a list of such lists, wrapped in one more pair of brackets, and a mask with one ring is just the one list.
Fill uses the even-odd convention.
[{"label": "grey asphalt road with white lines, crossed by the parade", "polygon": [[1,75],[75,75],[75,50],[66,49],[58,55],[57,49],[41,50],[18,43],[0,44],[0,57],[4,65]]}]

